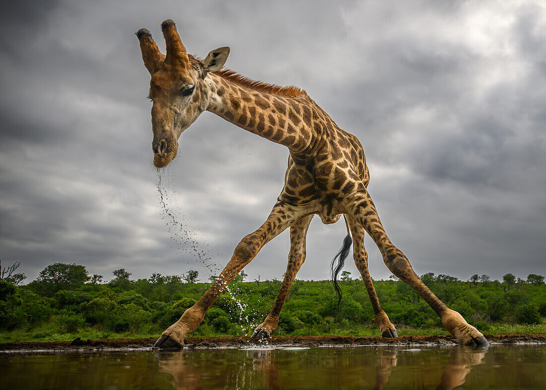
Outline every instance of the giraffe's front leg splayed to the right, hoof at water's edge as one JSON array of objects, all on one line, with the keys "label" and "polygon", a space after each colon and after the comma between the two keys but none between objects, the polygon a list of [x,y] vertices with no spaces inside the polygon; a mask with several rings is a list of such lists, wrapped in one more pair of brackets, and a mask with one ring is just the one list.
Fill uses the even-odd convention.
[{"label": "giraffe's front leg splayed to the right, hoof at water's edge", "polygon": [[353,193],[346,195],[343,206],[358,223],[364,226],[364,229],[377,244],[383,255],[383,261],[390,272],[410,285],[436,311],[442,320],[443,326],[446,327],[449,333],[454,335],[461,345],[489,345],[489,342],[478,329],[468,324],[455,310],[444,305],[419,279],[407,257],[387,237],[387,233],[385,233],[377,215],[376,207],[370,194],[364,188],[364,184],[362,182],[353,182],[353,185]]}]

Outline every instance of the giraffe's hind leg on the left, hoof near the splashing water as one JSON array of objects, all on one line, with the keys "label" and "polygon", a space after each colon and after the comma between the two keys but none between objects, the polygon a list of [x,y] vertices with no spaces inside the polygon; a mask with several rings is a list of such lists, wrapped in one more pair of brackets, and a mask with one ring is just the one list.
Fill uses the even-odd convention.
[{"label": "giraffe's hind leg on the left, hoof near the splashing water", "polygon": [[271,312],[265,317],[265,321],[256,327],[256,331],[252,334],[252,338],[268,338],[275,332],[282,305],[284,304],[284,301],[286,301],[290,286],[292,286],[296,274],[305,261],[305,238],[312,218],[313,215],[307,215],[290,226],[290,253],[288,254],[288,266],[286,267],[286,274],[284,274],[281,289],[278,292],[277,299]]}]

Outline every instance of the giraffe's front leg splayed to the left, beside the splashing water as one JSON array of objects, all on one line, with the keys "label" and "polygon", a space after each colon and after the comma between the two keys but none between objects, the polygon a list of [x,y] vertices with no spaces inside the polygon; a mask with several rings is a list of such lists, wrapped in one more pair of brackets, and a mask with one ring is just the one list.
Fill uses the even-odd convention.
[{"label": "giraffe's front leg splayed to the left, beside the splashing water", "polygon": [[199,301],[187,309],[178,321],[162,333],[154,347],[180,348],[184,344],[186,336],[197,329],[206,312],[235,275],[254,259],[254,256],[266,243],[280,234],[298,217],[298,212],[295,209],[282,202],[277,202],[264,224],[258,230],[243,238],[237,245],[228,265],[225,266]]}]

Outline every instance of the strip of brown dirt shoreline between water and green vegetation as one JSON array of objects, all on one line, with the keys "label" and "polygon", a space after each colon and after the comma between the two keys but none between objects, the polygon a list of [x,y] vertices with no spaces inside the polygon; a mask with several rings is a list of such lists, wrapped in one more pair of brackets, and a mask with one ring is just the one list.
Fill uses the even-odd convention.
[{"label": "strip of brown dirt shoreline between water and green vegetation", "polygon": [[[546,334],[488,334],[485,337],[491,345],[505,344],[546,344]],[[151,349],[157,338],[146,339],[105,339],[72,341],[0,343],[0,353],[13,352],[97,352],[112,350]],[[250,337],[187,337],[184,349],[237,349],[252,346],[453,346],[458,343],[450,336],[403,336],[396,339],[382,337],[345,337],[345,336],[292,336],[272,337],[262,343]]]}]

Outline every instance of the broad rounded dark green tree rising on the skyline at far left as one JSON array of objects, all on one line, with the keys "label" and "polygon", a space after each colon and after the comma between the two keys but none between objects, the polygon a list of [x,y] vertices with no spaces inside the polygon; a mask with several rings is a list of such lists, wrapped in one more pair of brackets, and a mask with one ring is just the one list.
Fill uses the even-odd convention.
[{"label": "broad rounded dark green tree rising on the skyline at far left", "polygon": [[[45,267],[34,281],[38,290],[53,295],[60,290],[73,290],[84,285],[89,275],[84,266],[53,263]],[[33,283],[34,283],[33,282]]]}]

